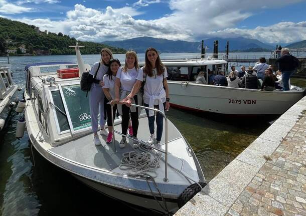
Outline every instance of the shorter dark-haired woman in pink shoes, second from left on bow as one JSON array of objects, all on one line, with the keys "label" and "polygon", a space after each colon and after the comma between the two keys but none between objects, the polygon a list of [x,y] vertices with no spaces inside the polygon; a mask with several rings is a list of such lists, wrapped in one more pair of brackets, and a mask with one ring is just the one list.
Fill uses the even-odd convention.
[{"label": "shorter dark-haired woman in pink shoes, second from left on bow", "polygon": [[[111,102],[115,98],[115,79],[117,75],[117,71],[121,66],[120,61],[118,59],[111,59],[109,61],[109,68],[107,73],[103,77],[104,86],[102,87],[103,92],[106,97],[107,102]],[[113,125],[111,120],[111,105],[104,103],[106,116],[107,116],[107,127],[108,127],[108,136],[106,138],[106,142],[110,143],[113,138]],[[116,117],[117,104],[113,106],[113,118]]]}]

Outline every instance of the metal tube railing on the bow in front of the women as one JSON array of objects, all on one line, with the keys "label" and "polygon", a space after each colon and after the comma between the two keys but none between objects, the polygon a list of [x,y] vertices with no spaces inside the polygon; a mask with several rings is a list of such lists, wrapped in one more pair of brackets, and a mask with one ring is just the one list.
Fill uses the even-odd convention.
[{"label": "metal tube railing on the bow in front of the women", "polygon": [[[165,146],[166,147],[165,147],[165,151],[163,149],[160,149],[160,148],[157,148],[155,146],[149,145],[149,144],[147,144],[146,142],[144,142],[142,140],[137,140],[137,139],[135,139],[133,137],[130,137],[128,135],[120,133],[119,131],[116,131],[115,128],[113,127],[113,145],[114,145],[114,151],[116,152],[115,133],[117,133],[117,134],[119,134],[121,136],[127,137],[127,138],[129,138],[129,139],[131,139],[133,141],[136,141],[136,142],[138,142],[138,143],[140,143],[140,144],[142,144],[142,145],[144,145],[144,146],[146,146],[148,148],[153,148],[153,149],[156,149],[156,150],[158,150],[160,152],[163,152],[165,154],[165,178],[164,178],[164,181],[168,182],[169,181],[168,180],[168,119],[167,119],[165,113],[163,113],[161,110],[150,108],[150,107],[145,107],[145,106],[140,106],[140,105],[137,105],[137,104],[131,104],[131,106],[135,106],[135,107],[139,107],[139,108],[142,108],[142,109],[148,109],[148,110],[152,110],[152,111],[155,111],[155,112],[159,112],[161,115],[164,116],[164,119],[165,119],[165,122],[166,122],[166,124],[165,124],[165,127],[166,127],[166,133],[165,133],[165,135],[166,135]],[[111,110],[112,125],[114,125],[113,105],[111,105],[111,109],[110,110]]]}]

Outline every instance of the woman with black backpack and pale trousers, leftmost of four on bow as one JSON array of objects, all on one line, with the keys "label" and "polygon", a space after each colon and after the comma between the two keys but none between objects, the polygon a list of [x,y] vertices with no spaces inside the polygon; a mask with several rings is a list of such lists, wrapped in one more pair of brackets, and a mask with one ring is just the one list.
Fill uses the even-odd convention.
[{"label": "woman with black backpack and pale trousers, leftmost of four on bow", "polygon": [[102,90],[103,76],[106,74],[109,67],[109,60],[112,59],[112,52],[104,48],[101,50],[101,60],[94,63],[90,72],[89,79],[92,81],[90,88],[90,116],[91,130],[94,133],[93,142],[95,145],[101,145],[98,136],[98,114],[100,113],[100,134],[107,136],[107,131],[104,129],[104,92]]}]

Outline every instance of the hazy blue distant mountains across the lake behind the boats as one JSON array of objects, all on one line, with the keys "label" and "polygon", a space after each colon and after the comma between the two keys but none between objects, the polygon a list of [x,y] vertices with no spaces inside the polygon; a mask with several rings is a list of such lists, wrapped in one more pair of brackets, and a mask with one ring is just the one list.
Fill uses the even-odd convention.
[{"label": "hazy blue distant mountains across the lake behind the boats", "polygon": [[[206,39],[204,46],[208,47],[207,52],[212,52],[214,40],[219,41],[219,52],[225,50],[226,42],[229,41],[230,51],[247,50],[253,48],[262,48],[273,50],[271,45],[264,44],[258,40],[246,38],[230,38],[230,39]],[[125,50],[132,49],[137,53],[144,53],[148,47],[154,47],[162,53],[194,53],[201,52],[201,42],[188,42],[188,41],[171,41],[163,38],[141,37],[132,38],[123,41],[104,41],[102,44],[109,46],[120,47]]]}]

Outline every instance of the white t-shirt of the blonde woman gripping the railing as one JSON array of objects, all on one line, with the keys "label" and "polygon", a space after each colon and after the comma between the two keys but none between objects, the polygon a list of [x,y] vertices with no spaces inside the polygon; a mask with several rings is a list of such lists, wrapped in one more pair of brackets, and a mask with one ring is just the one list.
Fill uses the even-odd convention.
[{"label": "white t-shirt of the blonde woman gripping the railing", "polygon": [[116,78],[120,79],[120,88],[123,91],[131,91],[136,80],[140,80],[142,82],[143,73],[142,69],[138,68],[138,70],[133,67],[132,69],[127,69],[126,72],[122,71],[123,66],[118,69],[116,74]]}]

